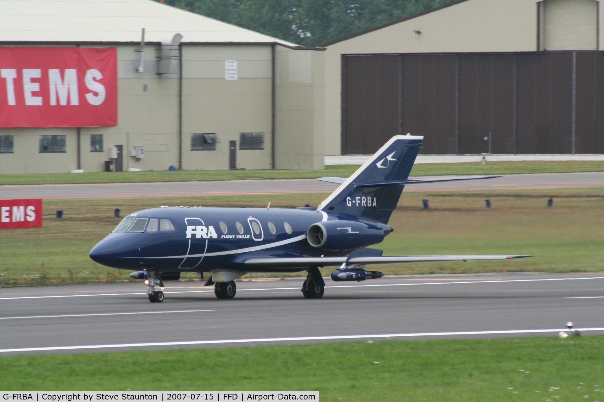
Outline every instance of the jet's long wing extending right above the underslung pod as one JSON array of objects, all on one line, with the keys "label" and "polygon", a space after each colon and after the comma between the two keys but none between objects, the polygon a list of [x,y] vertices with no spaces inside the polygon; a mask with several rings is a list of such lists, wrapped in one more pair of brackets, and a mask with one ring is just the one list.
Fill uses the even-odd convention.
[{"label": "jet's long wing extending right above the underslung pod", "polygon": [[339,266],[349,264],[392,264],[401,262],[467,261],[467,260],[510,260],[530,256],[496,254],[490,256],[371,256],[371,257],[294,257],[294,258],[251,258],[249,266]]}]

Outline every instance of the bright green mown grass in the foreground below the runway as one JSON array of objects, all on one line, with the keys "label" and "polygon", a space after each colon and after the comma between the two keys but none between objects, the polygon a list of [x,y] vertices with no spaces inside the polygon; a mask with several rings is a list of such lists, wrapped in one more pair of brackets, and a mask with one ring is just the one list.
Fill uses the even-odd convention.
[{"label": "bright green mown grass in the foreground below the runway", "polygon": [[0,357],[0,365],[2,391],[319,391],[324,402],[604,400],[604,337],[26,355]]}]

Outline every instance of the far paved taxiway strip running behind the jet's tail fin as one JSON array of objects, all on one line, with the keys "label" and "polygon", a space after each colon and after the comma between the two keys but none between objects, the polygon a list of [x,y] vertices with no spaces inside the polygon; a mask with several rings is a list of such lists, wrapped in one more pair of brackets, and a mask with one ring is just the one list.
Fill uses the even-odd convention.
[{"label": "far paved taxiway strip running behind the jet's tail fin", "polygon": [[[188,181],[171,183],[0,186],[0,199],[117,199],[251,194],[330,193],[338,184],[314,179]],[[604,187],[604,172],[507,175],[488,180],[413,184],[405,191],[519,190]]]}]

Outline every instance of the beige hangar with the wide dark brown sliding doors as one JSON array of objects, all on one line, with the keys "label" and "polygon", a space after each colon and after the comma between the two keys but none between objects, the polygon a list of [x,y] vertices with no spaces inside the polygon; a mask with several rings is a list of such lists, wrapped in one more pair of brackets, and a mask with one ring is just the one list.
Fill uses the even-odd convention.
[{"label": "beige hangar with the wide dark brown sliding doors", "polygon": [[458,0],[327,43],[327,155],[604,153],[597,0]]}]

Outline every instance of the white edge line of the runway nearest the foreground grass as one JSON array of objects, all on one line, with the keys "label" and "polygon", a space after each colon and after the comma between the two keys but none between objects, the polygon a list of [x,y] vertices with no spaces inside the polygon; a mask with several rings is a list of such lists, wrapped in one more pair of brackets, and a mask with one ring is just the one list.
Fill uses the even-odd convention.
[{"label": "white edge line of the runway nearest the foreground grass", "polygon": [[[576,330],[583,331],[583,332],[585,332],[585,331],[604,331],[604,328],[576,328]],[[149,346],[241,344],[241,343],[250,343],[250,342],[337,341],[339,339],[411,338],[411,337],[417,337],[417,336],[461,336],[461,335],[551,333],[551,332],[559,332],[559,331],[567,331],[567,329],[426,332],[426,333],[382,334],[382,335],[298,336],[298,337],[294,337],[294,338],[222,339],[220,341],[149,342],[149,343],[145,343],[145,344],[82,345],[82,346],[55,346],[55,347],[41,347],[41,348],[0,349],[0,353],[53,351],[53,350],[78,350],[78,349],[81,350],[81,349],[106,349],[106,348],[136,348],[136,347],[149,347]]]}]

